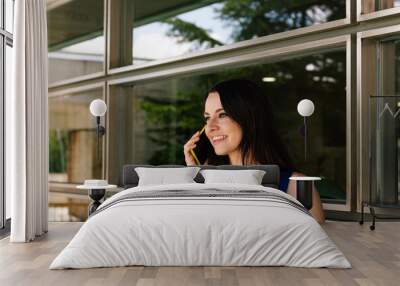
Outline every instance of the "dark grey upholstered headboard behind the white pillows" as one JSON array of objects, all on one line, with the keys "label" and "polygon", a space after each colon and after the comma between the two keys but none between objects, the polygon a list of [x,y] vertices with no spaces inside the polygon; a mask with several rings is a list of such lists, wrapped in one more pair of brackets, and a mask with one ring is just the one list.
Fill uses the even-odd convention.
[{"label": "dark grey upholstered headboard behind the white pillows", "polygon": [[[125,165],[122,174],[122,184],[125,189],[136,187],[139,182],[139,177],[135,172],[136,167],[148,167],[148,168],[179,168],[186,167],[184,165]],[[279,186],[279,167],[278,165],[252,165],[252,166],[235,166],[235,165],[221,165],[221,166],[198,166],[201,169],[222,169],[222,170],[246,170],[246,169],[256,169],[256,170],[264,170],[266,173],[262,180],[262,185],[265,187],[278,188]],[[198,173],[194,180],[197,183],[204,183],[203,176]]]}]

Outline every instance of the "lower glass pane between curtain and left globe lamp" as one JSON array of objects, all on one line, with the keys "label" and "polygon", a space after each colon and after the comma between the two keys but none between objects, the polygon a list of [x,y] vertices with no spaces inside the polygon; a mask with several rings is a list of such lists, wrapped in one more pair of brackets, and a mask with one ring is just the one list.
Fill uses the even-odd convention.
[{"label": "lower glass pane between curtain and left globe lamp", "polygon": [[96,98],[102,98],[101,89],[49,98],[50,182],[101,179],[96,122],[89,111]]}]

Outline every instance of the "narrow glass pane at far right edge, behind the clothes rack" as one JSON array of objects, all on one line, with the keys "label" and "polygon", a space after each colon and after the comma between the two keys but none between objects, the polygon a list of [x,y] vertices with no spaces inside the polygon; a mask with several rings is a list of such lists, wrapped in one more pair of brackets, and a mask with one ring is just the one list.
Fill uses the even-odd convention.
[{"label": "narrow glass pane at far right edge, behind the clothes rack", "polygon": [[371,202],[399,203],[400,37],[379,43],[378,97],[370,99]]}]

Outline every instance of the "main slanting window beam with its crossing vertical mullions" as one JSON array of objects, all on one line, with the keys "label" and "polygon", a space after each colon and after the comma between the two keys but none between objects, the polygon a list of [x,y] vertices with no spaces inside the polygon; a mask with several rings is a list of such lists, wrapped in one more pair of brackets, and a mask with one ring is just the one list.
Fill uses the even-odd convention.
[{"label": "main slanting window beam with its crossing vertical mullions", "polygon": [[[346,204],[324,204],[326,210],[338,210],[345,212],[360,212],[361,190],[365,189],[365,179],[368,173],[365,168],[368,167],[368,161],[365,161],[365,134],[368,134],[363,122],[362,112],[364,102],[361,98],[362,72],[361,63],[361,39],[368,40],[379,35],[389,35],[390,33],[399,33],[400,23],[398,18],[393,17],[400,13],[400,7],[380,10],[361,15],[361,0],[346,0],[346,18],[328,23],[323,23],[311,27],[300,28],[298,30],[287,31],[260,37],[253,40],[234,43],[231,45],[208,49],[206,51],[195,52],[185,56],[157,60],[140,66],[125,66],[110,68],[110,58],[112,49],[112,36],[118,32],[116,27],[111,25],[111,8],[115,1],[104,0],[105,13],[105,70],[102,73],[90,74],[82,77],[72,78],[61,82],[56,82],[49,86],[49,94],[62,94],[66,90],[79,90],[84,86],[104,85],[104,97],[108,105],[112,102],[116,92],[114,87],[125,83],[144,83],[147,81],[160,80],[177,75],[189,75],[205,70],[213,71],[221,67],[229,67],[250,63],[256,61],[252,56],[259,56],[259,59],[267,59],[273,52],[285,54],[287,52],[297,53],[296,48],[311,42],[320,41],[322,48],[330,45],[332,39],[345,37],[346,41]],[[383,27],[383,28],[382,28]],[[292,47],[288,51],[287,47]],[[318,47],[316,47],[317,49]],[[285,52],[286,51],[286,52]],[[264,58],[261,56],[263,55]],[[238,59],[236,59],[238,58]],[[240,59],[240,60],[239,60]],[[272,60],[272,58],[271,58]],[[112,108],[112,106],[111,106]],[[108,116],[106,114],[106,124]],[[365,120],[364,120],[365,121]],[[107,126],[108,127],[108,126]],[[109,176],[110,150],[109,138],[106,133],[106,152],[103,163],[105,166],[104,174]],[[103,143],[104,144],[104,143]],[[104,154],[103,154],[104,155]]]}]

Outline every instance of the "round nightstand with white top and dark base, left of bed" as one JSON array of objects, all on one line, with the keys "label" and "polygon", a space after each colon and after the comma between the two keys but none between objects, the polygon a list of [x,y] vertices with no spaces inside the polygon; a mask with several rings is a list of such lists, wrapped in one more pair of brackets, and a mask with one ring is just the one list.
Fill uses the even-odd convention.
[{"label": "round nightstand with white top and dark base, left of bed", "polygon": [[76,188],[88,190],[88,195],[92,199],[88,208],[88,214],[90,216],[101,205],[101,200],[103,200],[106,190],[116,187],[116,185],[109,185],[107,181],[104,180],[86,180],[84,185],[77,186]]}]

